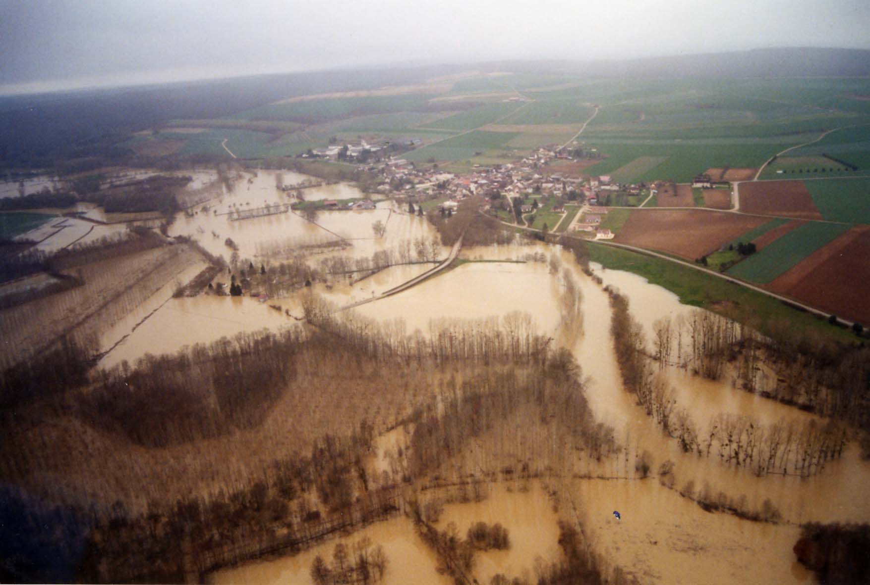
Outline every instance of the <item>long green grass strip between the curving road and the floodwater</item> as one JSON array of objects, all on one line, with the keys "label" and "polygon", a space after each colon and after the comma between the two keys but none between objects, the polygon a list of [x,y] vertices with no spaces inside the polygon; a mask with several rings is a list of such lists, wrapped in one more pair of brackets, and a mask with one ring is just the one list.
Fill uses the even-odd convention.
[{"label": "long green grass strip between the curving road and the floodwater", "polygon": [[825,319],[797,311],[766,294],[689,266],[600,243],[590,243],[588,249],[592,261],[608,269],[639,274],[654,285],[663,286],[677,294],[679,302],[685,305],[702,306],[719,312],[752,325],[761,332],[768,330],[767,325],[787,325],[789,331],[815,332],[837,341],[851,342],[855,339],[847,329],[828,325]]}]

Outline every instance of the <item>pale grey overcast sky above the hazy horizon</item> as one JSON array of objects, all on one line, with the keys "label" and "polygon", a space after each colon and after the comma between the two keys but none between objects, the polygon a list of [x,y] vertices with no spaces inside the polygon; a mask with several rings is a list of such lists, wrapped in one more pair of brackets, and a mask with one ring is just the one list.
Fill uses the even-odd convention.
[{"label": "pale grey overcast sky above the hazy horizon", "polygon": [[391,62],[870,49],[867,0],[0,0],[0,93]]}]

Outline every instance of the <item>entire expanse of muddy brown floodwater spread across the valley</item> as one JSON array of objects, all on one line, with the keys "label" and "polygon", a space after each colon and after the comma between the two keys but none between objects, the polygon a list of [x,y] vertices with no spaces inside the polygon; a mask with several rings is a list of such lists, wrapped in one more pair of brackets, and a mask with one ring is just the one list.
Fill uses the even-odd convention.
[{"label": "entire expanse of muddy brown floodwater spread across the valley", "polygon": [[[285,183],[305,179],[303,175],[283,175]],[[273,171],[243,174],[231,191],[215,186],[215,181],[207,172],[197,174],[195,188],[214,189],[214,196],[191,207],[189,213],[177,214],[169,235],[188,236],[209,253],[224,258],[235,251],[240,258],[252,260],[255,268],[262,263],[271,270],[279,261],[291,258],[295,249],[312,242],[345,241],[341,247],[297,256],[318,264],[342,255],[356,261],[396,249],[403,241],[438,237],[427,220],[405,213],[388,200],[378,201],[372,210],[322,211],[314,220],[293,212],[230,220],[227,214],[231,210],[285,204],[291,202],[291,195],[278,189],[278,173]],[[305,189],[304,196],[315,200],[361,195],[355,187],[333,185]],[[97,207],[80,211],[90,220],[110,220]],[[371,224],[377,220],[386,226],[383,237],[372,231]],[[39,229],[46,230],[44,241],[52,246],[46,249],[57,249],[72,241],[119,233],[125,227],[57,218]],[[228,246],[227,239],[238,250]],[[281,249],[289,252],[272,253]],[[448,248],[438,245],[432,258],[440,259],[447,253]],[[108,369],[124,361],[134,365],[148,353],[173,353],[238,333],[303,328],[300,322],[308,295],[322,297],[335,307],[371,301],[345,314],[389,324],[406,334],[420,332],[424,337],[450,321],[480,324],[489,319],[492,324],[496,322],[492,318],[511,313],[527,316],[532,329],[553,348],[564,348],[576,358],[592,415],[596,422],[612,427],[619,450],[599,461],[584,450],[566,448],[559,470],[545,470],[547,477],[525,481],[492,479],[498,471],[487,469],[494,463],[487,459],[485,434],[453,454],[445,463],[445,473],[464,473],[465,478],[474,477],[478,482],[485,477],[487,494],[479,502],[460,498],[444,503],[433,526],[455,529],[464,537],[472,523],[500,523],[512,543],[510,549],[475,553],[470,575],[481,583],[491,582],[497,575],[533,582],[544,565],[564,561],[559,521],[581,523],[592,549],[607,559],[608,570],[620,567],[639,582],[693,583],[698,582],[699,575],[710,583],[806,582],[810,575],[794,562],[792,552],[800,523],[870,520],[870,501],[863,496],[870,483],[870,463],[860,459],[854,444],[847,444],[842,457],[827,461],[812,477],[780,470],[758,477],[749,469],[730,464],[730,459],[726,461],[715,450],[711,455],[708,448],[702,457],[699,452],[682,449],[676,437],[663,431],[637,398],[624,389],[613,349],[612,306],[605,286],[628,299],[629,311],[638,320],[651,354],[659,319],[679,322],[698,311],[681,305],[673,293],[637,275],[593,264],[592,273],[601,279],[596,282],[583,273],[572,253],[559,246],[518,244],[466,247],[445,271],[403,292],[379,298],[436,264],[437,260],[426,260],[383,269],[349,269],[271,297],[258,294],[260,299],[213,292],[174,298],[173,293],[205,266],[204,260],[191,260],[178,266],[171,279],[123,319],[101,332],[99,345],[104,356],[99,366]],[[213,282],[227,279],[224,271]],[[678,359],[656,375],[673,389],[673,408],[685,411],[686,420],[700,434],[712,432],[717,417],[745,417],[754,427],[765,429],[775,424],[824,423],[806,411],[740,390],[735,368],[725,365],[719,379],[709,380],[681,367]],[[444,404],[439,403],[438,408],[443,413]],[[517,420],[519,425],[521,415]],[[384,426],[377,431],[384,431]],[[389,478],[402,477],[404,470],[399,468],[407,464],[408,452],[413,449],[412,435],[412,424],[400,424],[373,437],[374,452],[360,463],[360,469],[365,469],[358,473],[368,473],[375,483],[385,477],[384,485]],[[548,448],[560,447],[554,442]],[[525,457],[532,451],[518,452]],[[639,471],[640,462],[646,466],[643,472]],[[437,494],[438,489],[426,490],[427,497]],[[711,502],[723,503],[721,509],[711,511]],[[619,510],[622,520],[612,516],[613,510]],[[770,515],[767,519],[775,521],[741,518],[731,513],[733,510],[756,516],[765,510]],[[364,539],[384,549],[385,583],[451,582],[447,575],[438,573],[438,556],[405,516],[318,542],[296,555],[218,570],[211,575],[211,582],[313,582],[311,565],[318,555],[331,561],[337,543],[353,549]],[[759,558],[766,562],[757,562]]]}]

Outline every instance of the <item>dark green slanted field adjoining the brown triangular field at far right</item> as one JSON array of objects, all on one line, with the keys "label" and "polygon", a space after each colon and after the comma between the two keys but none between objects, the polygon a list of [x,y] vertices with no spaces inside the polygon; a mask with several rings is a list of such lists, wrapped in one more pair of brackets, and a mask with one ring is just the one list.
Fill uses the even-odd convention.
[{"label": "dark green slanted field adjoining the brown triangular field at far right", "polygon": [[766,284],[848,229],[849,226],[840,224],[811,221],[748,256],[728,270],[728,274]]}]

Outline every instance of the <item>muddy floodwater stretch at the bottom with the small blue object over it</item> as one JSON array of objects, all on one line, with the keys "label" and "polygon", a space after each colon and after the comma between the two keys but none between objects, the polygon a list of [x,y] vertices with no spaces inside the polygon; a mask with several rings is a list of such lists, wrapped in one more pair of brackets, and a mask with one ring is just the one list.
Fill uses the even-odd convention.
[{"label": "muddy floodwater stretch at the bottom with the small blue object over it", "polygon": [[794,560],[796,525],[708,513],[655,479],[575,480],[561,490],[596,552],[641,583],[813,582]]}]

